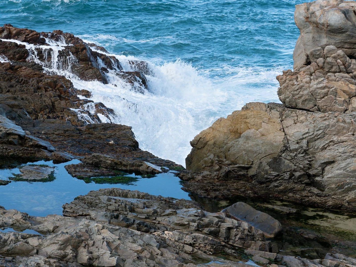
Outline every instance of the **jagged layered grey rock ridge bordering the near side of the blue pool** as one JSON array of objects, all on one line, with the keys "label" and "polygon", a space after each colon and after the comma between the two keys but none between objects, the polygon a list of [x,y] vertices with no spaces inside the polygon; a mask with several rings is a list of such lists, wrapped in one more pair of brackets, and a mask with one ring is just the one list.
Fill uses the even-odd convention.
[{"label": "jagged layered grey rock ridge bordering the near side of the blue pool", "polygon": [[193,201],[163,198],[118,188],[99,189],[63,205],[64,216],[75,216],[129,227],[216,253],[232,247],[257,247],[268,251],[270,244],[260,230],[227,218],[223,213],[199,209]]}]

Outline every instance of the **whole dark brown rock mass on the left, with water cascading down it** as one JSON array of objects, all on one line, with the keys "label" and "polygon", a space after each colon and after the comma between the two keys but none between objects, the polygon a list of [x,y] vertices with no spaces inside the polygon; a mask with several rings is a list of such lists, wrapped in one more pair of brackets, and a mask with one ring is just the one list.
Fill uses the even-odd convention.
[{"label": "whole dark brown rock mass on the left, with water cascading down it", "polygon": [[0,56],[6,59],[0,62],[0,157],[57,163],[78,158],[85,162],[79,167],[104,168],[108,173],[159,173],[162,167],[181,167],[140,150],[129,126],[113,124],[117,116],[113,110],[83,99],[91,97],[90,91],[74,88],[70,80],[51,71],[57,68],[103,83],[111,71],[128,84],[134,80],[136,86],[141,80],[143,87],[132,89],[144,93],[143,73],[153,74],[147,63],[132,61],[134,71],[124,72],[105,48],[62,31],[38,33],[5,24],[0,39]]}]

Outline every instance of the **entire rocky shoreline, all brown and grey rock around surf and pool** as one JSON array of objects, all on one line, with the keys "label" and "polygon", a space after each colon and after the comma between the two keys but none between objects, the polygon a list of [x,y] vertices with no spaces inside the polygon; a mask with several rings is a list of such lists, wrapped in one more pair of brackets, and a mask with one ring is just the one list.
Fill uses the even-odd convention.
[{"label": "entire rocky shoreline, all brown and grey rock around surf and pool", "polygon": [[[145,75],[152,74],[146,62],[130,61],[127,72],[104,47],[70,33],[5,24],[0,168],[78,159],[65,168],[85,183],[173,170],[197,199],[243,196],[353,212],[356,45],[349,40],[355,37],[355,12],[353,1],[297,5],[294,71],[277,77],[282,104],[248,103],[217,120],[191,142],[187,169],[141,150],[131,127],[114,123],[120,114],[87,99],[91,92],[70,81],[106,84],[109,74],[117,75],[130,90],[145,94],[150,89]],[[48,182],[53,170],[21,166],[11,180]],[[0,180],[0,186],[10,182]],[[63,216],[30,216],[0,206],[0,266],[356,266],[355,242],[296,231],[262,212],[265,208],[300,213],[272,204],[257,210],[241,201],[209,212],[193,200],[119,188],[78,196],[63,205]],[[325,242],[328,251],[321,257],[286,255],[278,238],[287,231]]]}]

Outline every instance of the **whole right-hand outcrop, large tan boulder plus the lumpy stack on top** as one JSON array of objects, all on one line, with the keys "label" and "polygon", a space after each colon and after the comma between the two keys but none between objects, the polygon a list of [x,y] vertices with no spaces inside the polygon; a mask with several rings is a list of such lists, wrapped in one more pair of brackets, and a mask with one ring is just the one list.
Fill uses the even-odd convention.
[{"label": "whole right-hand outcrop, large tan boulder plus the lumpy stack on top", "polygon": [[294,71],[281,104],[248,103],[191,142],[185,190],[208,197],[283,198],[356,210],[354,1],[296,6]]}]

